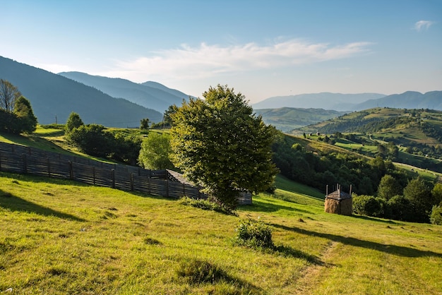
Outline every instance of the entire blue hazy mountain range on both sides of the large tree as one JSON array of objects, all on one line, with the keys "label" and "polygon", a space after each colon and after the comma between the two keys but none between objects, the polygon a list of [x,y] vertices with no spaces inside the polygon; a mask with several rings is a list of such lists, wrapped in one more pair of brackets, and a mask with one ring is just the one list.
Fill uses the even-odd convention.
[{"label": "entire blue hazy mountain range on both sides of the large tree", "polygon": [[[69,114],[76,112],[86,124],[138,127],[141,119],[161,121],[167,107],[181,105],[189,98],[179,90],[152,81],[133,83],[80,72],[55,74],[2,56],[0,78],[16,85],[30,100],[40,124],[64,124]],[[270,97],[252,107],[267,124],[289,131],[340,116],[342,112],[373,107],[442,110],[442,91],[408,91],[398,95],[321,92]]]}]

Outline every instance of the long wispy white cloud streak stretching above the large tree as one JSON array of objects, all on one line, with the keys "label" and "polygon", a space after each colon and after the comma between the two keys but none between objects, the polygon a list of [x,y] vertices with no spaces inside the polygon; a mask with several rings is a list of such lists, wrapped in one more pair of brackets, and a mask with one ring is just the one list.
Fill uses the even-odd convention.
[{"label": "long wispy white cloud streak stretching above the large tree", "polygon": [[297,64],[345,59],[370,52],[370,42],[354,42],[342,45],[310,43],[288,40],[260,46],[256,43],[231,45],[209,45],[198,47],[186,44],[178,49],[153,52],[132,61],[118,61],[117,68],[103,76],[124,77],[129,80],[149,78],[207,78],[225,73],[241,73],[260,69],[275,69]]}]

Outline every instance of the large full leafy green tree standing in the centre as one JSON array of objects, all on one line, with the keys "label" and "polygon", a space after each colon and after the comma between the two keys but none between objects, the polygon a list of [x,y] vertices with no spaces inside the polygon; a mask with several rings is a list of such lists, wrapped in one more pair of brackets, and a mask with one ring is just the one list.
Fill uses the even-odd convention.
[{"label": "large full leafy green tree standing in the centre", "polygon": [[234,208],[240,191],[269,188],[277,174],[276,131],[253,114],[244,95],[217,85],[171,114],[172,162],[212,197]]}]

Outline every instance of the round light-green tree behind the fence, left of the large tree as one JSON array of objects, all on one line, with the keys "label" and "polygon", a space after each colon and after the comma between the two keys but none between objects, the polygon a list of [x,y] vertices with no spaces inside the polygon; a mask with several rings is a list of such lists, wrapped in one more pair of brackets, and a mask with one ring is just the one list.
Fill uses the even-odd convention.
[{"label": "round light-green tree behind the fence, left of the large tree", "polygon": [[138,163],[145,169],[172,169],[170,153],[170,136],[151,132],[141,143]]}]

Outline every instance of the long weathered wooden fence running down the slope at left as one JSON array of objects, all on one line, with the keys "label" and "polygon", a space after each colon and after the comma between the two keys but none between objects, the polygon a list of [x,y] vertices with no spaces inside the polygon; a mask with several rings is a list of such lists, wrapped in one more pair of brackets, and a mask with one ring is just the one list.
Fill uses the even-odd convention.
[{"label": "long weathered wooden fence running down the slope at left", "polygon": [[[207,198],[201,188],[183,181],[174,171],[109,164],[8,143],[0,143],[0,171],[72,179],[167,198]],[[251,194],[241,194],[238,201],[241,205],[251,204]]]}]

